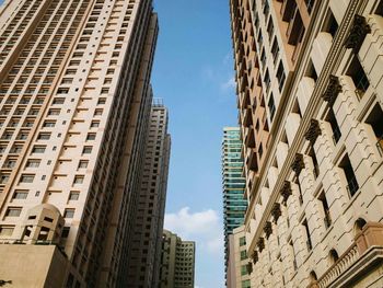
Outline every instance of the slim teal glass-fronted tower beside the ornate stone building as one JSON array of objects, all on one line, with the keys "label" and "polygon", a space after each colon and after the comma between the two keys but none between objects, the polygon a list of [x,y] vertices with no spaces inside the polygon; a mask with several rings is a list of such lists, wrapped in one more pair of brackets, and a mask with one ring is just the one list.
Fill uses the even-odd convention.
[{"label": "slim teal glass-fronted tower beside the ornate stone building", "polygon": [[227,286],[234,281],[234,263],[232,246],[233,230],[243,224],[247,201],[244,199],[246,186],[243,173],[242,141],[239,127],[224,127],[222,140],[222,184],[223,184],[223,221]]}]

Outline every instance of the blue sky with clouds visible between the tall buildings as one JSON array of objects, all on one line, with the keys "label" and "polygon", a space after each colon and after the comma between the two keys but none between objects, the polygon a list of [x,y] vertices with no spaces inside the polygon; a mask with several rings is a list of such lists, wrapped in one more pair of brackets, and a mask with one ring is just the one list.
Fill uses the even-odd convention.
[{"label": "blue sky with clouds visible between the tall buildings", "polygon": [[154,10],[152,85],[172,135],[165,228],[196,241],[196,288],[222,288],[222,128],[237,123],[229,0],[154,0]]}]

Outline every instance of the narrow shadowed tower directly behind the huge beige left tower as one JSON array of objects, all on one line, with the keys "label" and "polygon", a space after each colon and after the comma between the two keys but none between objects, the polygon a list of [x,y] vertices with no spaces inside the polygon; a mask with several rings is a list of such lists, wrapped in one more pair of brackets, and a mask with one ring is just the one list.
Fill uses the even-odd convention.
[{"label": "narrow shadowed tower directly behind the huge beige left tower", "polygon": [[165,214],[171,136],[167,108],[154,100],[138,195],[137,214],[129,243],[127,287],[159,287],[162,231]]}]

